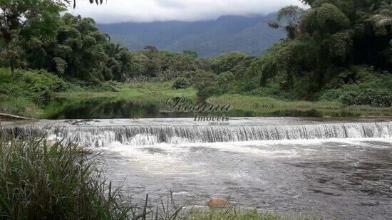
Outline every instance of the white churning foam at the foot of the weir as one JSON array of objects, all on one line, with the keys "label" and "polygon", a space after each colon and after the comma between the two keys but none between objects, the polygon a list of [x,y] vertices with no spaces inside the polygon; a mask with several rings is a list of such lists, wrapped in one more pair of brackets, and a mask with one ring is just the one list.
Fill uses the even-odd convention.
[{"label": "white churning foam at the foot of the weir", "polygon": [[[187,143],[181,145],[160,143],[156,145],[143,145],[138,147],[129,146],[126,144],[118,145],[118,143],[115,143],[115,145],[110,147],[92,149],[99,151],[102,150],[104,152],[110,152],[116,155],[118,154],[120,155],[120,158],[125,159],[133,164],[132,166],[139,166],[140,169],[143,169],[150,174],[189,174],[203,177],[210,174],[212,170],[205,168],[208,167],[206,166],[207,164],[205,164],[205,162],[192,158],[194,155],[191,152],[191,148],[195,148],[196,150],[198,149],[200,151],[213,149],[225,153],[243,154],[244,157],[247,158],[293,159],[312,157],[312,154],[318,151],[319,146],[322,146],[327,142],[333,142],[336,147],[392,148],[392,139],[390,138],[363,138]],[[371,145],[369,142],[385,142],[386,145]],[[326,153],[333,149],[334,147],[329,147],[328,150],[326,150]],[[227,175],[231,175],[234,178],[238,176],[238,173],[227,173]]]}]

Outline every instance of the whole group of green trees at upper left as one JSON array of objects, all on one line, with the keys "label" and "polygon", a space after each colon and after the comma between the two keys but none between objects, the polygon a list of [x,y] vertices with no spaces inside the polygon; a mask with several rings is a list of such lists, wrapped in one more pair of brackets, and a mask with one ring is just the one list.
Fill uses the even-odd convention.
[{"label": "whole group of green trees at upper left", "polygon": [[111,43],[93,19],[61,15],[61,1],[0,1],[0,7],[1,63],[11,70],[46,69],[95,84],[140,74],[130,51]]}]

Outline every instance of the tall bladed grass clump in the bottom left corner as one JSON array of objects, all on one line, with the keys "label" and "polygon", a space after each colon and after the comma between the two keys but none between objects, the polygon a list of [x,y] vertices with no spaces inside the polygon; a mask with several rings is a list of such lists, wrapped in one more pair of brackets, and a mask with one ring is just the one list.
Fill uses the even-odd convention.
[{"label": "tall bladed grass clump in the bottom left corner", "polygon": [[0,170],[5,219],[129,219],[133,211],[73,144],[1,132]]}]

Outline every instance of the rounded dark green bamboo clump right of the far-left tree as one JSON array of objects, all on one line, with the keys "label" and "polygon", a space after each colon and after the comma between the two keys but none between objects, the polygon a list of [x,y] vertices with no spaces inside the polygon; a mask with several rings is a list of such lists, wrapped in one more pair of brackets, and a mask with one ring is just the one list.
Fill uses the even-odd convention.
[{"label": "rounded dark green bamboo clump right of the far-left tree", "polygon": [[[96,84],[104,80],[124,81],[135,75],[130,51],[110,43],[108,36],[98,31],[93,19],[65,14],[56,32],[56,38],[45,43],[31,43],[29,40],[30,47],[26,51],[28,66],[47,68],[65,78]],[[34,37],[40,38],[39,35]],[[36,54],[37,51],[41,54]],[[46,60],[37,63],[37,56]],[[49,60],[51,57],[53,59]]]}]

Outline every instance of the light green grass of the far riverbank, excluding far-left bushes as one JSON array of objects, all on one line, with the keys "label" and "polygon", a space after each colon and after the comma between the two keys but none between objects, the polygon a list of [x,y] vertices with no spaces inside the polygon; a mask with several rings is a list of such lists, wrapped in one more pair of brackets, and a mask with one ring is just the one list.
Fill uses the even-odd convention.
[{"label": "light green grass of the far riverbank, excluding far-left bushes", "polygon": [[[190,103],[197,102],[196,90],[186,88],[175,90],[172,82],[165,83],[118,83],[117,90],[107,92],[66,92],[56,97],[66,100],[88,100],[113,98],[112,101],[139,100],[156,103],[163,107],[170,97],[185,97]],[[212,105],[232,105],[231,117],[388,117],[392,107],[376,108],[368,105],[346,106],[336,101],[309,102],[301,100],[279,100],[269,97],[225,94],[207,99]]]}]

